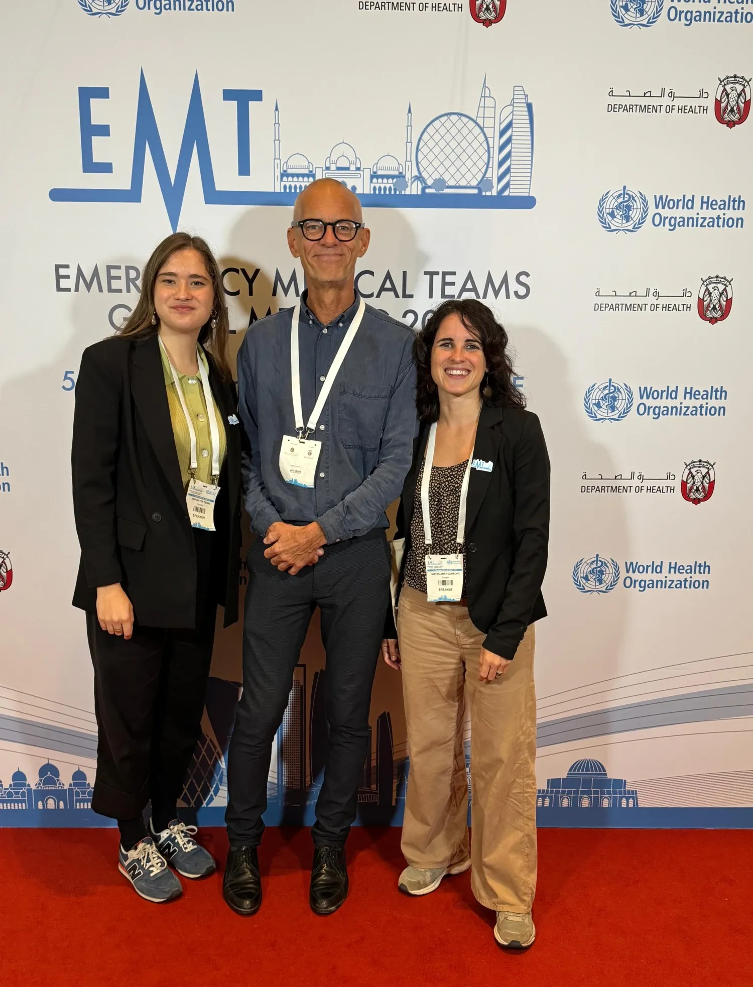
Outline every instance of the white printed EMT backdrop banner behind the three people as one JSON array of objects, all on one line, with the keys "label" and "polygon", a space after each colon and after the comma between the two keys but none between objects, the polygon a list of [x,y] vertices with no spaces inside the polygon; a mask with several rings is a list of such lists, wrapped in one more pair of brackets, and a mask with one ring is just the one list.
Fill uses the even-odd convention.
[{"label": "white printed EMT backdrop banner behind the three people", "polygon": [[[364,297],[411,327],[485,301],[542,420],[540,823],[752,825],[752,0],[48,0],[0,21],[0,825],[107,823],[70,606],[81,352],[172,230],[221,258],[235,351],[302,289],[285,228],[322,176],[363,202]],[[218,631],[184,793],[204,822],[240,652]],[[315,620],[269,822],[312,818],[326,680]],[[380,664],[362,822],[401,821],[409,770]]]}]

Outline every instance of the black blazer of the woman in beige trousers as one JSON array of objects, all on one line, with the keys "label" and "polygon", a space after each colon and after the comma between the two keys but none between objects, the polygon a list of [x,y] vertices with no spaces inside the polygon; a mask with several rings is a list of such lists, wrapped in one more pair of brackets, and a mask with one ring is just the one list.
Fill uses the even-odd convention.
[{"label": "black blazer of the woman in beige trousers", "polygon": [[[415,482],[429,425],[414,440],[414,460],[398,509],[396,538],[411,548]],[[474,459],[493,464],[471,470],[466,516],[466,597],[471,620],[487,635],[484,646],[512,658],[529,624],[547,616],[541,584],[549,543],[549,456],[539,419],[519,408],[482,408]],[[400,573],[401,585],[403,572]],[[386,636],[395,638],[392,613]]]}]

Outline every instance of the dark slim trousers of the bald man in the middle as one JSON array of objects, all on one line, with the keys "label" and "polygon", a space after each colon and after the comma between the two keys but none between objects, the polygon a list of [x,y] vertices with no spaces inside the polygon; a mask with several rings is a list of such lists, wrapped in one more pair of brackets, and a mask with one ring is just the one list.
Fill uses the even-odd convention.
[{"label": "dark slim trousers of the bald man in the middle", "polygon": [[319,607],[329,741],[312,836],[318,847],[341,846],[355,819],[368,753],[371,686],[390,598],[389,547],[385,532],[374,530],[327,546],[316,565],[297,575],[275,569],[264,549],[257,540],[248,556],[243,695],[228,757],[228,836],[232,846],[262,840],[272,740]]}]

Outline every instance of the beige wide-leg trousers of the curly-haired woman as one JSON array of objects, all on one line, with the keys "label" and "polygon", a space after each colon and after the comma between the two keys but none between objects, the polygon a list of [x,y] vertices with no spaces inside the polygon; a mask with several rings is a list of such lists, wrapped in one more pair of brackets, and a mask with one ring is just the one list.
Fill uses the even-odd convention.
[{"label": "beige wide-leg trousers of the curly-haired woman", "polygon": [[495,911],[531,911],[536,890],[534,626],[504,675],[479,679],[486,635],[462,603],[403,586],[398,610],[410,770],[401,847],[430,870],[468,860],[463,749],[471,717],[471,887]]}]

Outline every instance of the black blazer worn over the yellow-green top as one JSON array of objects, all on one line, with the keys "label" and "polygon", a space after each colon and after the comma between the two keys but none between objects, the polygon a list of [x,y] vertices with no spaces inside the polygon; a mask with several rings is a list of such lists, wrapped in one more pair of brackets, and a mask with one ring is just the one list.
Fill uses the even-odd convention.
[{"label": "black blazer worn over the yellow-green top", "polygon": [[[228,420],[237,412],[235,385],[206,356],[227,437],[211,577],[227,627],[238,619],[241,425]],[[156,336],[84,350],[71,462],[81,545],[73,605],[96,611],[97,587],[119,582],[140,624],[193,628],[196,554]]]}]

